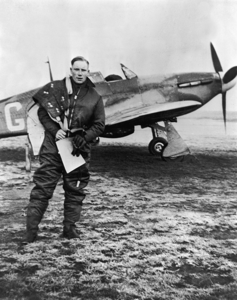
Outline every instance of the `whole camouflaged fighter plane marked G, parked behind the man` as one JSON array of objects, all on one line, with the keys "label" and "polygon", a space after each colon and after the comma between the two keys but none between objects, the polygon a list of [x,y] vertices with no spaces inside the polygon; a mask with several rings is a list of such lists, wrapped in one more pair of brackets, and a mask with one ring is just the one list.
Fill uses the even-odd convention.
[{"label": "whole camouflaged fighter plane marked G, parked behind the man", "polygon": [[[150,153],[161,155],[166,161],[183,160],[189,149],[172,125],[177,117],[200,108],[221,93],[224,125],[226,122],[226,91],[235,84],[237,67],[224,74],[212,44],[211,55],[215,73],[138,77],[123,64],[126,79],[90,73],[89,78],[105,105],[106,128],[102,137],[120,138],[132,134],[134,126],[150,127],[153,135],[148,147]],[[32,99],[39,89],[0,101],[0,137],[28,135],[34,155],[38,155],[44,139],[44,128],[37,117],[38,105]],[[161,121],[164,126],[158,124]]]}]

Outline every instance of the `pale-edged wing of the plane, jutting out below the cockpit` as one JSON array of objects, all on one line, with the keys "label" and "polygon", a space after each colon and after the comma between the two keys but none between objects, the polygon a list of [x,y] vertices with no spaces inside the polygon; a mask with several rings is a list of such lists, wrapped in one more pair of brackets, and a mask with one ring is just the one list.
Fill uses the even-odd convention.
[{"label": "pale-edged wing of the plane, jutting out below the cockpit", "polygon": [[[187,100],[187,101],[175,101],[166,102],[160,104],[152,105],[142,105],[136,108],[130,109],[117,109],[116,113],[107,115],[106,114],[106,125],[116,125],[123,122],[134,123],[138,125],[137,122],[149,120],[150,118],[164,119],[164,115],[173,111],[174,116],[176,112],[180,111],[192,111],[192,108],[197,108],[202,104],[198,101]],[[180,114],[179,114],[180,115]]]}]

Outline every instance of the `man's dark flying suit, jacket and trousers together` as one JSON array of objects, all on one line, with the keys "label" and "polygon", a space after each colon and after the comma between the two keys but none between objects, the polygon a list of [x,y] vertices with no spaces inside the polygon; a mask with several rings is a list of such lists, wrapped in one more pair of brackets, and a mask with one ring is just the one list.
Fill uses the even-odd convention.
[{"label": "man's dark flying suit, jacket and trousers together", "polygon": [[[52,83],[54,86],[57,84],[57,82],[56,84],[54,84],[54,82]],[[50,83],[51,87],[52,83]],[[64,84],[64,82],[62,84]],[[87,84],[80,87],[79,90],[72,82],[73,92],[69,95],[68,127],[70,130],[82,128],[84,130],[85,141],[87,144],[83,147],[83,149],[81,149],[81,155],[85,159],[86,163],[70,173],[66,173],[55,143],[55,135],[60,129],[60,126],[52,120],[46,111],[45,106],[39,106],[38,116],[39,120],[44,125],[45,137],[39,155],[40,166],[33,175],[33,182],[35,183],[35,186],[30,194],[30,201],[27,210],[28,216],[42,217],[44,215],[44,212],[48,207],[49,199],[53,196],[53,192],[59,178],[63,175],[63,189],[65,196],[64,216],[65,211],[67,211],[74,222],[78,221],[76,208],[82,205],[82,201],[85,198],[83,189],[87,186],[90,178],[88,170],[90,162],[90,141],[96,136],[99,136],[105,127],[103,101],[101,96],[97,94],[91,84],[92,83],[89,79],[87,79]],[[47,87],[44,87],[41,94],[45,93],[47,96],[48,90],[49,89],[47,89]],[[75,100],[76,94],[78,94],[79,97]],[[66,99],[66,95],[64,96]],[[35,99],[39,99],[37,94]],[[52,101],[48,103],[52,103]],[[61,119],[64,117],[63,113],[64,111],[60,115]],[[75,134],[70,133],[70,136],[74,136]]]}]

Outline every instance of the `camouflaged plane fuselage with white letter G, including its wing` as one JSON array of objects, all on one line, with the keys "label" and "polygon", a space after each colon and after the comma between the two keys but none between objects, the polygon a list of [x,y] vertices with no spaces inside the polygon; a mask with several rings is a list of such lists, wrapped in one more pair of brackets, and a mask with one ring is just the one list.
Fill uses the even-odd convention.
[{"label": "camouflaged plane fuselage with white letter G, including its wing", "polygon": [[[95,83],[105,104],[106,128],[120,124],[144,126],[190,113],[221,93],[221,88],[218,73],[153,75]],[[1,137],[27,135],[27,112],[38,89],[0,101]],[[183,105],[185,101],[191,102]]]}]

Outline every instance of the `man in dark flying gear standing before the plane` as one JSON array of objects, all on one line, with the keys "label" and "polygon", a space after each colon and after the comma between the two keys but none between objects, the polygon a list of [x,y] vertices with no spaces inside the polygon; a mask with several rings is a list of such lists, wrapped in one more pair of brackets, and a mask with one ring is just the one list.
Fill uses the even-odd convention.
[{"label": "man in dark flying gear standing before the plane", "polygon": [[[81,57],[71,61],[71,74],[63,80],[52,81],[41,88],[33,99],[39,104],[38,116],[45,128],[39,155],[40,166],[33,175],[33,187],[27,207],[26,231],[22,243],[33,242],[49,199],[63,175],[64,220],[63,235],[80,238],[75,223],[80,219],[83,189],[89,181],[90,146],[105,128],[102,97],[88,78],[89,63]],[[72,137],[71,155],[85,159],[85,164],[66,173],[56,146],[57,140]]]}]

